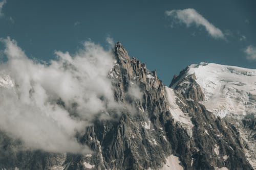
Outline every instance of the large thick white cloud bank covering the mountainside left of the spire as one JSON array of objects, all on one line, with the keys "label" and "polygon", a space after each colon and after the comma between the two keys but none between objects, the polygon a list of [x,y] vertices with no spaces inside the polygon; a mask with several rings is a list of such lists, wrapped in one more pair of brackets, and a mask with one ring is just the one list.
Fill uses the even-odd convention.
[{"label": "large thick white cloud bank covering the mountainside left of the spire", "polygon": [[30,149],[88,152],[75,134],[118,105],[107,77],[112,51],[87,41],[76,54],[56,51],[57,60],[41,64],[15,40],[1,41],[8,60],[0,64],[0,130]]}]

